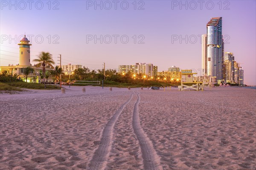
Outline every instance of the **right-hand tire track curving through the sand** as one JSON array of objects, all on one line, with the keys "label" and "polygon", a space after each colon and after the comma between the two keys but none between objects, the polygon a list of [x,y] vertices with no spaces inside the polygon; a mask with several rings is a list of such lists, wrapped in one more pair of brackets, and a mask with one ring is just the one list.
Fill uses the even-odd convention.
[{"label": "right-hand tire track curving through the sand", "polygon": [[134,105],[132,126],[134,133],[140,144],[140,149],[142,152],[143,164],[145,170],[163,170],[160,165],[160,157],[157,155],[156,150],[154,150],[153,144],[148,139],[143,128],[140,126],[140,116],[139,116],[139,103],[140,103],[140,93],[137,93],[137,102]]}]

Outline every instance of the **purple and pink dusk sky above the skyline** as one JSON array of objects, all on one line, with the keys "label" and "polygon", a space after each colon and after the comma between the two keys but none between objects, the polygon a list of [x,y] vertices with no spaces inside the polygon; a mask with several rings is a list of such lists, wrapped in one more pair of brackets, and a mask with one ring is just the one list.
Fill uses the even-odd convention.
[{"label": "purple and pink dusk sky above the skyline", "polygon": [[[158,71],[166,71],[172,65],[198,70],[201,69],[198,35],[206,34],[206,24],[211,17],[222,17],[225,52],[233,52],[236,62],[241,63],[244,83],[256,85],[255,0],[204,1],[202,4],[182,1],[184,6],[181,1],[144,0],[136,1],[136,10],[134,0],[126,1],[129,5],[126,10],[124,1],[118,1],[115,9],[112,0],[108,1],[112,5],[109,10],[109,3],[100,0],[97,3],[102,3],[102,10],[95,6],[94,0],[61,0],[51,4],[33,1],[31,9],[29,3],[24,6],[19,2],[12,1],[11,6],[9,0],[1,1],[1,66],[18,63],[17,39],[26,32],[33,36],[28,37],[32,43],[31,59],[40,51],[49,51],[56,63],[58,54],[62,54],[62,64],[81,64],[91,69],[102,68],[103,62],[106,68],[112,69],[146,62],[157,65]],[[41,10],[40,2],[43,2]],[[94,40],[88,40],[90,35],[98,38],[102,35],[105,40],[102,38],[102,44],[100,40],[95,44]],[[112,38],[109,44],[106,35]],[[113,35],[119,36],[116,43]],[[121,36],[123,42],[128,37],[128,43],[122,43]],[[183,40],[180,42],[174,37]]]}]

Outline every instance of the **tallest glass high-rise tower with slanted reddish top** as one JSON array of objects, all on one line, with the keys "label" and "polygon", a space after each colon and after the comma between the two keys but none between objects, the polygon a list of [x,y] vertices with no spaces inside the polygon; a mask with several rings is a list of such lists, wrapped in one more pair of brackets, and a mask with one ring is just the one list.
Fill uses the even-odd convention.
[{"label": "tallest glass high-rise tower with slanted reddish top", "polygon": [[207,23],[206,65],[207,75],[223,80],[224,41],[222,38],[222,17],[214,17]]}]

